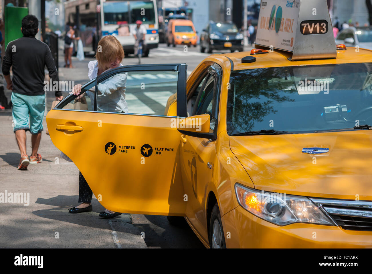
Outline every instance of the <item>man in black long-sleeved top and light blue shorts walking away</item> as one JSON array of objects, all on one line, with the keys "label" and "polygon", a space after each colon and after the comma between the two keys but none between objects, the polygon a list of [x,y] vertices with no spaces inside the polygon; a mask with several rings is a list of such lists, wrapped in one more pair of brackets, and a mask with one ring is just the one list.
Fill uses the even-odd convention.
[{"label": "man in black long-sleeved top and light blue shorts walking away", "polygon": [[[27,170],[29,164],[42,161],[38,149],[45,110],[44,67],[48,68],[50,81],[59,81],[57,67],[48,45],[35,38],[39,31],[38,24],[38,18],[34,15],[26,15],[22,19],[23,37],[9,42],[2,66],[7,89],[12,91],[13,131],[21,154],[19,170]],[[12,66],[13,79],[10,79]],[[55,99],[61,101],[62,98],[62,92],[55,91]],[[27,130],[31,132],[30,158],[26,152]]]}]

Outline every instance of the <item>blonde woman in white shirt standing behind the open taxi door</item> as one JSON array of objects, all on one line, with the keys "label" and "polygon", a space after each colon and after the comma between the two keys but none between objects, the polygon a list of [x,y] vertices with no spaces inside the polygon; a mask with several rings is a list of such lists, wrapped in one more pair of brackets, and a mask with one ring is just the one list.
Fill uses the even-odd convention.
[{"label": "blonde woman in white shirt standing behind the open taxi door", "polygon": [[[90,61],[88,64],[88,77],[90,80],[96,78],[109,69],[122,66],[121,61],[124,58],[124,50],[120,42],[108,35],[103,37],[98,42],[98,48],[95,61]],[[128,112],[128,104],[125,101],[125,86],[126,86],[127,73],[119,73],[114,75],[97,87],[97,110],[106,112]],[[79,95],[81,92],[81,85],[75,85],[73,94]],[[87,91],[94,102],[94,93]],[[84,179],[81,172],[79,173],[79,201],[80,205],[70,208],[70,213],[80,213],[92,211],[92,195],[87,181]],[[121,215],[120,212],[114,212],[105,209],[100,212],[99,216],[103,218],[113,218]]]}]

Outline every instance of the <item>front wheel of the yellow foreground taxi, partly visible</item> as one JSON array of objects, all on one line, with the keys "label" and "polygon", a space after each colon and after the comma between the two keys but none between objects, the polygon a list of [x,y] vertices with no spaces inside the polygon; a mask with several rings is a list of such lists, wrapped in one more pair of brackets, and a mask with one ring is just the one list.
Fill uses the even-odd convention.
[{"label": "front wheel of the yellow foreground taxi, partly visible", "polygon": [[209,223],[209,247],[226,248],[225,234],[217,203],[212,209],[211,222]]}]

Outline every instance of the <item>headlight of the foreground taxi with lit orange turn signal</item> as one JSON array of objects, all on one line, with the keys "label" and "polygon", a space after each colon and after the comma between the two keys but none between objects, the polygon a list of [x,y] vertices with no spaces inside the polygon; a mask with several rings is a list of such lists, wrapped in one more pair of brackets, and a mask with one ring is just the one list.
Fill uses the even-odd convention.
[{"label": "headlight of the foreground taxi with lit orange turn signal", "polygon": [[303,196],[264,192],[238,183],[235,184],[235,194],[244,209],[278,226],[292,223],[334,226],[310,199]]}]

